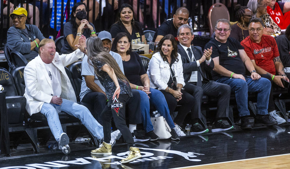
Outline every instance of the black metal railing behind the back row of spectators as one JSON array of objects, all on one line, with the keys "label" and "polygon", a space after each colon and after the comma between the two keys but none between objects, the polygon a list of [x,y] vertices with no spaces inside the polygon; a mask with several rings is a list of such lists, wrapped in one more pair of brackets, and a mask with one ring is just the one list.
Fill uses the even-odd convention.
[{"label": "black metal railing behind the back row of spectators", "polygon": [[[43,0],[39,0],[40,1],[40,9],[39,9],[39,16],[36,16],[36,0],[7,0],[7,12],[8,14],[3,14],[3,8],[4,8],[4,4],[3,4],[3,0],[1,0],[0,5],[1,5],[1,22],[0,22],[0,48],[3,48],[3,43],[6,42],[6,36],[7,36],[7,30],[10,27],[10,18],[9,16],[9,9],[10,9],[10,2],[14,4],[14,9],[17,7],[16,5],[19,4],[20,7],[23,7],[23,5],[26,5],[26,10],[29,12],[31,10],[29,10],[29,4],[31,4],[33,6],[33,24],[35,24],[35,19],[36,17],[39,17],[39,29],[41,30],[41,32],[44,34],[45,37],[48,37],[49,35],[54,36],[54,38],[56,38],[57,36],[57,18],[59,18],[59,16],[57,16],[57,10],[60,10],[61,12],[61,16],[60,16],[60,34],[63,34],[63,28],[64,28],[64,2],[67,2],[68,4],[70,3],[76,3],[77,0],[55,0],[53,7],[54,7],[54,28],[50,28],[50,20],[51,20],[51,15],[46,15],[46,23],[44,23],[44,16],[43,16]],[[79,0],[78,0],[79,1]],[[83,1],[83,0],[80,0]],[[95,15],[95,5],[97,3],[97,1],[95,0],[84,0],[86,1],[87,4],[87,8],[89,6],[93,6],[93,15],[89,16],[89,12],[87,14],[87,17],[92,17],[93,18],[93,24],[95,25],[96,30],[108,30],[108,26],[105,27],[104,26],[104,21],[111,21],[111,23],[114,23],[115,18],[111,18],[108,16],[102,16],[102,3],[106,3],[106,7],[110,6],[109,4],[109,0],[100,0],[99,1],[99,14],[97,19],[95,20],[94,18],[96,17]],[[117,0],[110,0],[111,1],[111,12],[112,14],[116,14],[117,10],[114,10],[114,3]],[[59,4],[57,4],[57,2],[61,2],[60,5],[60,9]],[[166,19],[172,18],[173,13],[176,11],[176,9],[180,6],[184,6],[186,8],[189,9],[190,11],[190,17],[191,19],[193,19],[195,17],[195,19],[193,19],[193,22],[197,25],[197,30],[208,30],[208,19],[207,19],[207,13],[208,10],[210,8],[211,5],[213,5],[216,2],[220,2],[225,4],[228,9],[229,9],[229,13],[230,13],[230,18],[231,21],[235,21],[235,12],[234,12],[234,5],[237,3],[240,3],[242,6],[246,6],[248,3],[248,0],[143,0],[143,4],[140,3],[140,0],[118,0],[118,8],[122,5],[122,3],[127,2],[127,3],[131,3],[135,5],[137,5],[137,11],[135,11],[135,16],[137,16],[136,20],[139,21],[140,18],[140,10],[142,10],[142,15],[144,18],[144,22],[143,22],[143,28],[145,28],[146,26],[148,26],[148,28],[154,29],[154,28],[158,28],[158,26],[160,24],[162,24],[163,21],[165,21]],[[150,3],[149,3],[150,2]],[[237,2],[237,3],[234,3]],[[91,4],[93,3],[93,4]],[[137,3],[137,4],[136,4]],[[150,4],[150,5],[147,5]],[[168,4],[168,5],[167,5]],[[229,6],[229,4],[231,4]],[[157,15],[157,19],[155,21],[155,23],[152,25],[150,23],[148,23],[148,20],[152,22],[152,18],[153,18],[153,6],[157,5],[157,11],[156,13],[159,14]],[[164,9],[166,8],[167,5],[167,11],[165,11]],[[70,7],[70,6],[69,6]],[[142,7],[142,9],[141,9]],[[52,8],[50,8],[50,0],[47,1],[47,9],[48,14],[51,12],[52,14]],[[154,11],[155,12],[155,11]],[[104,10],[105,13],[105,10]],[[67,10],[66,12],[66,16],[69,20],[70,17],[70,9]],[[148,19],[149,18],[149,19]],[[197,20],[197,21],[196,21]],[[4,21],[5,21],[5,25],[4,25]],[[112,22],[113,21],[113,22]]]}]

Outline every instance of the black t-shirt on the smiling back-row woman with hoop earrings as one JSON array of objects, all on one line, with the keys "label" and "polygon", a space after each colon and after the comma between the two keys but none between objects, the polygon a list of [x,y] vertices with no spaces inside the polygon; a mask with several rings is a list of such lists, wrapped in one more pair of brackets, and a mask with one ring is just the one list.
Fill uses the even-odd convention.
[{"label": "black t-shirt on the smiling back-row woman with hoop earrings", "polygon": [[[139,30],[132,28],[132,34],[130,35],[131,44],[137,44],[137,42],[142,42],[142,35],[144,35],[144,32],[143,32],[139,22],[135,21],[135,24],[137,24],[139,26]],[[121,26],[118,23],[113,24],[112,27],[110,28],[110,33],[112,35],[112,38],[115,38],[116,35],[120,32],[126,32],[125,29],[126,28],[124,26]]]}]

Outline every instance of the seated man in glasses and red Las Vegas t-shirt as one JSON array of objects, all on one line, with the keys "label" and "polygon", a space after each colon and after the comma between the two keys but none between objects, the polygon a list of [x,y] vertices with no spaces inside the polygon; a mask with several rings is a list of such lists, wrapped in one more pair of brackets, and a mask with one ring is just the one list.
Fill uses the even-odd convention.
[{"label": "seated man in glasses and red Las Vegas t-shirt", "polygon": [[[269,35],[263,35],[263,21],[260,18],[253,18],[249,24],[249,36],[241,42],[244,51],[251,59],[255,70],[263,78],[273,81],[280,87],[283,87],[281,79],[289,82],[285,75],[284,66],[280,60],[279,51],[275,39]],[[285,123],[285,119],[276,114],[273,101],[273,92],[270,91],[269,117],[276,120],[278,124]]]}]

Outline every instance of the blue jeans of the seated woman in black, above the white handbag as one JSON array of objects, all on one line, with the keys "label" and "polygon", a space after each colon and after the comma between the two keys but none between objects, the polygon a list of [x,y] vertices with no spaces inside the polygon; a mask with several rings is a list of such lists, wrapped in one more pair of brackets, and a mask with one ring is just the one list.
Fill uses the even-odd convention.
[{"label": "blue jeans of the seated woman in black, above the white handbag", "polygon": [[[153,125],[150,120],[150,105],[154,105],[156,110],[163,116],[168,123],[169,127],[173,129],[175,127],[172,118],[169,113],[168,105],[165,100],[164,95],[161,93],[161,91],[157,89],[150,88],[151,94],[146,94],[142,90],[137,90],[140,94],[140,109],[141,109],[141,114],[143,116],[142,118],[142,123],[145,132],[150,132],[153,131]],[[150,99],[148,98],[150,97]]]}]

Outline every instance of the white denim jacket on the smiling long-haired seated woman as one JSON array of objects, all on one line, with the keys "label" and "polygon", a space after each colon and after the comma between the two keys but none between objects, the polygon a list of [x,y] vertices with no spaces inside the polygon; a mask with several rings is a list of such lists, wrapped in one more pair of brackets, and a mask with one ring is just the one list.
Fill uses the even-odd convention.
[{"label": "white denim jacket on the smiling long-haired seated woman", "polygon": [[[183,78],[182,60],[180,54],[177,54],[178,62],[175,61],[172,64],[171,69],[175,72],[177,83],[185,86]],[[155,53],[150,59],[147,70],[147,74],[150,79],[150,87],[158,88],[159,90],[165,90],[168,87],[167,83],[171,76],[169,69],[169,63],[162,59],[159,52]]]}]

